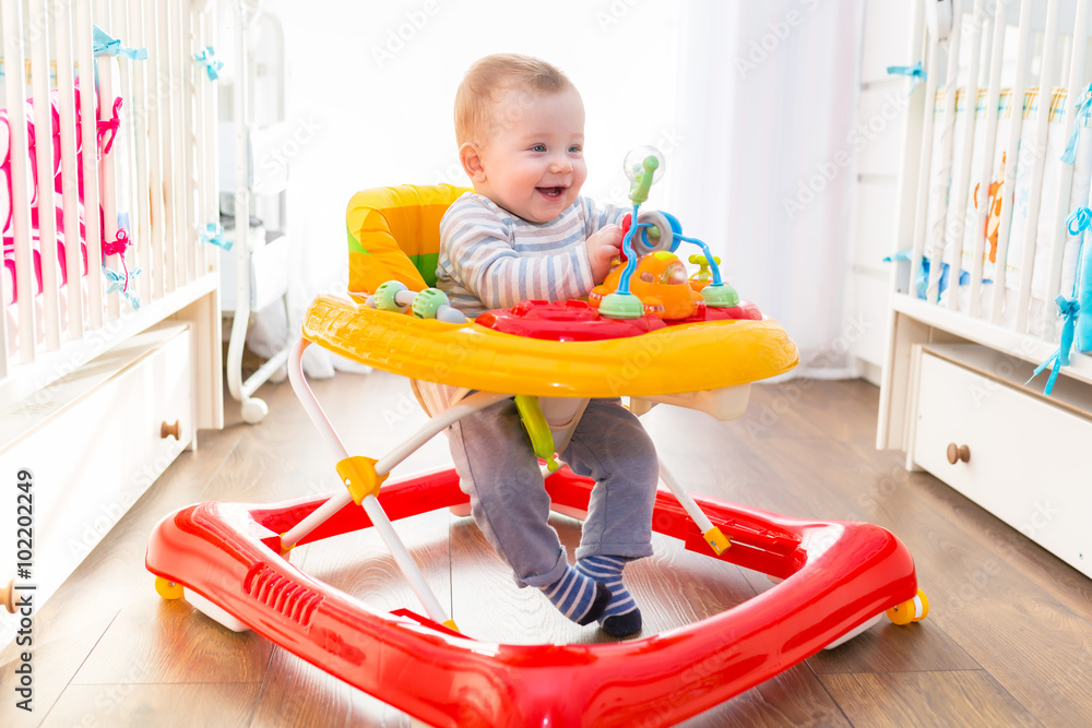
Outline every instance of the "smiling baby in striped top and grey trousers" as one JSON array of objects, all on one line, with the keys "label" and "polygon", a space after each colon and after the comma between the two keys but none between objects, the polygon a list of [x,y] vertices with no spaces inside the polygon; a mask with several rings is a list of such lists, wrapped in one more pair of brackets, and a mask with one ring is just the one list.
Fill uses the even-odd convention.
[{"label": "smiling baby in striped top and grey trousers", "polygon": [[[440,223],[437,287],[475,317],[527,299],[581,298],[619,253],[625,210],[580,196],[584,108],[563,73],[517,55],[488,56],[455,96],[459,158],[474,192]],[[475,522],[520,586],[535,586],[567,618],[613,636],[640,631],[622,583],[627,562],[652,553],[656,452],[619,399],[592,399],[565,449],[569,467],[595,480],[575,565],[550,527],[538,460],[511,399],[449,431]]]}]

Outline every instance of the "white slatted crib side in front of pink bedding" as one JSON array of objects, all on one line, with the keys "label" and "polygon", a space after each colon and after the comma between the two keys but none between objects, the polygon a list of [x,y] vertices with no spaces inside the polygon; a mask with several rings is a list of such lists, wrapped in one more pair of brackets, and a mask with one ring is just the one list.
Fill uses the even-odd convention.
[{"label": "white slatted crib side in front of pink bedding", "polygon": [[0,405],[215,289],[211,4],[0,0]]}]

